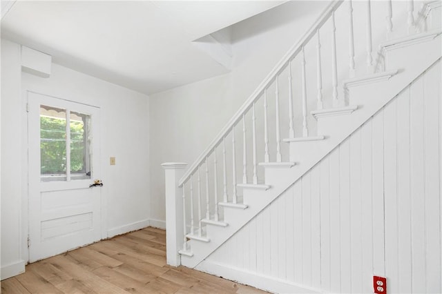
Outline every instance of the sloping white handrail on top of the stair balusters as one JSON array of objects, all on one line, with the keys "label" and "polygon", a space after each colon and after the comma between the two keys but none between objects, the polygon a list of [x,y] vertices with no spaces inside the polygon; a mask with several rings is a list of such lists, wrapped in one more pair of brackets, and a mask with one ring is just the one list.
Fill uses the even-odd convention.
[{"label": "sloping white handrail on top of the stair balusters", "polygon": [[301,37],[295,44],[292,46],[289,51],[280,59],[280,61],[276,64],[276,66],[269,72],[269,75],[265,77],[264,80],[260,83],[258,88],[249,96],[249,98],[244,101],[244,104],[239,108],[235,115],[227,122],[227,124],[222,128],[220,133],[213,139],[208,148],[206,148],[201,155],[193,161],[193,164],[189,167],[186,173],[181,177],[178,182],[178,186],[182,187],[182,185],[189,179],[191,175],[204,163],[206,157],[210,155],[212,150],[221,143],[222,139],[229,133],[229,131],[235,126],[240,119],[242,119],[242,115],[251,108],[253,102],[255,102],[260,95],[267,89],[273,80],[283,71],[285,67],[289,64],[291,59],[294,59],[296,55],[302,50],[302,47],[305,46],[310,39],[316,34],[319,28],[323,26],[323,24],[331,17],[332,12],[336,11],[340,4],[343,3],[344,0],[333,0],[329,3],[327,8],[323,10],[318,19],[313,23],[313,25],[307,30],[307,33]]}]

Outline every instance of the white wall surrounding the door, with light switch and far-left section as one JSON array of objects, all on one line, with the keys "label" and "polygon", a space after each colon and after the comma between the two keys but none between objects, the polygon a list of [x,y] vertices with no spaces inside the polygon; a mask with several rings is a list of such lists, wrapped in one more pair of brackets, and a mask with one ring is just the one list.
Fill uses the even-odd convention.
[{"label": "white wall surrounding the door, with light switch and far-left section", "polygon": [[[102,197],[107,202],[104,226],[109,237],[148,226],[148,96],[56,63],[48,79],[30,75],[20,70],[19,45],[2,40],[1,49],[2,269],[27,260],[28,255],[26,90],[101,108]],[[111,156],[116,157],[115,166],[109,164]]]}]

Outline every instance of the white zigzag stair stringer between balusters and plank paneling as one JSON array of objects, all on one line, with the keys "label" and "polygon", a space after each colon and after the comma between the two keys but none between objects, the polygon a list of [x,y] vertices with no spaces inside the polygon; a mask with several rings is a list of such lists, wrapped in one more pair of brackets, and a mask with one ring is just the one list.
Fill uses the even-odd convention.
[{"label": "white zigzag stair stringer between balusters and plank paneling", "polygon": [[[243,204],[247,207],[238,209],[223,206],[223,221],[229,226],[207,226],[206,235],[210,238],[208,243],[189,240],[193,257],[181,255],[182,265],[194,268],[200,264],[216,248],[226,242],[242,226],[247,224],[262,209],[323,159],[325,155],[362,126],[369,117],[372,117],[414,79],[432,66],[435,61],[441,58],[440,34],[432,39],[427,38],[425,42],[410,42],[410,44],[410,46],[398,46],[394,49],[394,70],[397,69],[398,71],[394,71],[394,75],[390,75],[388,79],[378,79],[372,83],[358,81],[358,83],[346,85],[349,93],[349,105],[357,106],[357,109],[333,116],[318,117],[318,135],[324,136],[323,138],[310,141],[286,140],[290,145],[289,161],[296,162],[296,165],[284,168],[264,166],[265,184],[271,186],[271,188],[268,190],[251,190],[243,187]],[[389,55],[391,52],[392,50],[388,50],[386,54]],[[401,59],[398,57],[401,57]],[[387,58],[386,60],[390,61],[392,59]],[[389,63],[386,66],[392,68]],[[366,78],[370,79],[369,76]],[[378,78],[378,75],[373,75],[373,78]]]}]

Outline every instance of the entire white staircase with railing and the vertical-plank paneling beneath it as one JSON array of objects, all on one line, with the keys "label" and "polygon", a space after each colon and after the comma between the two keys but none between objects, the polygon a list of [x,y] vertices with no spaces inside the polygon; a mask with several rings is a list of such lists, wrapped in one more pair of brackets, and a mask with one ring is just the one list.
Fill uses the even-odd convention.
[{"label": "entire white staircase with railing and the vertical-plank paneling beneath it", "polygon": [[373,275],[389,293],[441,291],[442,30],[404,2],[407,34],[387,18],[372,50],[370,1],[355,2],[364,52],[352,1],[330,3],[184,176],[169,170],[170,264],[275,292],[372,292]]}]

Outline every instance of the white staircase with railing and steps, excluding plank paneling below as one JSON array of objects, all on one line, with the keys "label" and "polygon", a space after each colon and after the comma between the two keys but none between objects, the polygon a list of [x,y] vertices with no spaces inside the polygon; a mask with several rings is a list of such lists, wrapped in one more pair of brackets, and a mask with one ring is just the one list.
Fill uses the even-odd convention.
[{"label": "white staircase with railing and steps, excluding plank paneling below", "polygon": [[[436,2],[439,3],[439,1]],[[372,117],[441,58],[441,28],[428,28],[427,31],[421,29],[423,32],[416,32],[417,29],[414,28],[405,37],[384,40],[380,43],[378,57],[374,59],[376,63],[369,65],[369,68],[370,66],[377,68],[377,72],[342,78],[343,75],[338,75],[336,70],[336,41],[334,41],[334,23],[332,23],[332,48],[327,50],[327,54],[328,52],[334,54],[332,62],[335,64],[332,64],[332,67],[335,68],[331,83],[327,86],[321,84],[323,73],[320,56],[324,52],[323,49],[321,50],[322,44],[318,30],[322,30],[326,23],[334,22],[336,10],[352,8],[351,2],[345,1],[341,6],[342,3],[342,1],[330,3],[305,37],[278,63],[180,181],[177,183],[171,181],[172,197],[179,199],[177,195],[182,196],[182,199],[175,202],[175,205],[181,209],[176,209],[184,213],[184,216],[182,213],[176,215],[178,219],[176,223],[182,226],[176,230],[178,233],[174,236],[175,239],[180,236],[178,243],[182,244],[177,264],[191,268],[200,264],[369,117]],[[430,4],[434,6],[434,1]],[[419,12],[421,18],[415,20],[416,24],[423,26],[425,17],[431,12],[428,10],[430,4],[421,8]],[[352,10],[349,11],[350,19],[352,19]],[[387,32],[390,30],[390,20],[387,19]],[[406,25],[410,25],[410,22]],[[353,36],[350,36],[350,44],[352,41]],[[317,58],[311,60],[311,63],[316,63],[315,76],[318,77],[314,81],[314,84],[318,85],[318,91],[315,95],[311,95],[313,99],[306,95],[307,81],[305,80],[305,48],[310,42],[319,45],[311,47],[316,50],[313,56]],[[369,49],[368,52],[371,55],[371,48]],[[354,54],[352,55],[351,45],[349,52],[350,68],[347,77],[353,75],[352,72],[354,72],[352,68],[354,63],[351,60],[355,57]],[[365,52],[362,55],[364,54]],[[294,90],[291,88],[291,70],[292,67],[294,68],[291,63],[295,60],[300,60],[302,71],[302,87],[296,89],[300,90],[299,97],[302,100],[302,110],[299,114],[294,113],[293,110],[293,99],[296,95],[293,95]],[[345,63],[345,66],[347,64]],[[289,94],[284,97],[284,99],[289,99],[287,102],[289,110],[286,111],[288,116],[285,119],[280,113],[281,89],[284,88],[280,77],[283,75],[289,79],[289,84],[285,87],[285,92],[287,88],[289,89]],[[331,95],[325,95],[326,90]],[[343,95],[338,96],[338,92],[341,91]],[[269,95],[269,92],[274,94]],[[276,106],[269,110],[270,98],[271,104]],[[323,108],[325,105],[323,102],[326,99],[332,100],[329,104],[334,104],[336,107]],[[259,120],[258,104],[262,106],[259,111],[264,112],[259,117],[261,119],[259,123],[257,122]],[[307,109],[311,105],[318,105],[319,109],[308,113]],[[302,121],[300,126],[294,124],[296,115],[300,115],[299,120]],[[316,135],[309,135],[311,133],[307,126],[310,121],[309,115],[317,121]],[[269,121],[273,121],[271,129]],[[289,125],[285,127],[288,130],[287,137],[280,135],[282,129],[280,121],[285,121]],[[303,136],[294,137],[296,133],[294,130],[302,130],[299,133]],[[269,137],[272,137],[272,140],[275,137],[276,141],[269,143]],[[282,144],[288,144],[288,148]],[[286,149],[287,153],[284,153]],[[263,170],[263,175],[260,169]],[[168,184],[166,182],[166,187]],[[166,195],[166,197],[169,196]],[[173,223],[169,222],[169,219],[167,222]],[[180,233],[183,231],[185,233]]]}]

